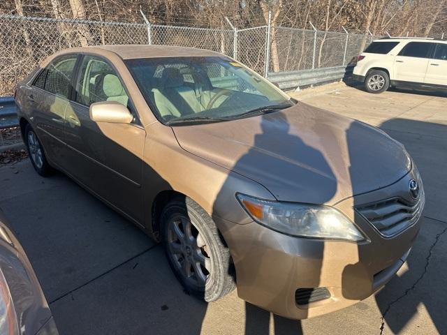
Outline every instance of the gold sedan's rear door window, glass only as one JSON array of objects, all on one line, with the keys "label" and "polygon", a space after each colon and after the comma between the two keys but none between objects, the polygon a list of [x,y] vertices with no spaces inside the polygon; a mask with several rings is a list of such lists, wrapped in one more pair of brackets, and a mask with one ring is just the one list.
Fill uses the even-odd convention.
[{"label": "gold sedan's rear door window, glass only", "polygon": [[45,91],[68,98],[77,59],[78,56],[74,54],[54,59],[46,68]]}]

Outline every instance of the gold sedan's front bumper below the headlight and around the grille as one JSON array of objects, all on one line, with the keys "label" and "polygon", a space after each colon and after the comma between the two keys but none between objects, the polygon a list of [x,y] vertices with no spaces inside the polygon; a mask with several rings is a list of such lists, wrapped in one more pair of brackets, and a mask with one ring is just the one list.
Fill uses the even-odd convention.
[{"label": "gold sedan's front bumper below the headlight and around the grille", "polygon": [[[237,225],[214,218],[235,263],[238,295],[291,319],[337,311],[372,295],[404,264],[420,229],[420,220],[397,236],[386,238],[353,211],[353,207],[399,195],[408,190],[411,178],[413,174],[409,173],[392,186],[336,206],[351,216],[369,238],[361,243],[291,237],[255,222]],[[297,290],[311,289],[312,292],[316,288],[325,288],[330,296],[307,304],[298,303]]]}]

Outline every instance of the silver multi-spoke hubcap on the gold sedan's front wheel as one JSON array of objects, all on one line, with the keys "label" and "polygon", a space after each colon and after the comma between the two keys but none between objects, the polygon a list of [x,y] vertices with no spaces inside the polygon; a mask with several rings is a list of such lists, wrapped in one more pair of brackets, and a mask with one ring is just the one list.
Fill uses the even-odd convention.
[{"label": "silver multi-spoke hubcap on the gold sedan's front wheel", "polygon": [[212,274],[210,249],[203,234],[186,216],[176,216],[168,223],[168,251],[184,279],[197,288],[205,288]]}]

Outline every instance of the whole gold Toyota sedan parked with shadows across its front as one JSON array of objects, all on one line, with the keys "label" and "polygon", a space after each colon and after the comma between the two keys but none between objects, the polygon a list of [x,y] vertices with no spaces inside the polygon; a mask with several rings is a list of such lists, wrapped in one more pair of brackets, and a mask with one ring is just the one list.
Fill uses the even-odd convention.
[{"label": "whole gold Toyota sedan parked with shadows across its front", "polygon": [[207,50],[54,54],[15,93],[31,163],[161,241],[184,288],[287,318],[355,304],[409,255],[425,195],[399,142]]}]

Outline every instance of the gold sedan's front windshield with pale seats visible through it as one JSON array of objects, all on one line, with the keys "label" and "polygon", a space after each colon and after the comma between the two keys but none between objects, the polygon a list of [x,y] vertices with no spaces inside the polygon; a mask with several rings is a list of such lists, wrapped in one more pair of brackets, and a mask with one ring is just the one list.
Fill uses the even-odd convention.
[{"label": "gold sedan's front windshield with pale seats visible through it", "polygon": [[229,121],[291,107],[286,94],[226,57],[126,61],[156,117],[170,126]]}]

